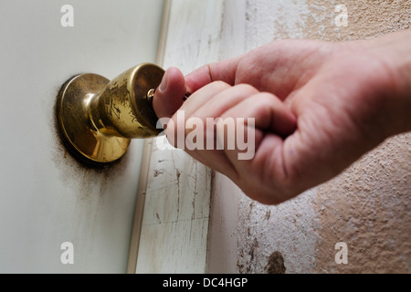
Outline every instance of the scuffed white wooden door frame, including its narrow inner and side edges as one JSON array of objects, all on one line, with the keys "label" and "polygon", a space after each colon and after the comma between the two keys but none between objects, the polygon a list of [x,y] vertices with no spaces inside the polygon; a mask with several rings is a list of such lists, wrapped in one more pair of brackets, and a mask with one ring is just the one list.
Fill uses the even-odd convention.
[{"label": "scuffed white wooden door frame, including its narrow inner and side edges", "polygon": [[[236,0],[165,0],[157,64],[186,74],[234,57],[243,40],[229,35],[244,25],[244,11]],[[155,144],[145,141],[127,272],[235,273],[242,193],[184,151],[159,151]],[[178,199],[167,205],[163,188],[178,190]]]}]

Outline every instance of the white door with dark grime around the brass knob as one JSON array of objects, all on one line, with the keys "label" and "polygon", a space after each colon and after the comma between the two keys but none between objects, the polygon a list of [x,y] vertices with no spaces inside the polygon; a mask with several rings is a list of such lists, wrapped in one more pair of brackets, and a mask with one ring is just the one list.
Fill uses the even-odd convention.
[{"label": "white door with dark grime around the brass knob", "polygon": [[155,62],[162,9],[160,0],[2,1],[0,273],[126,272],[143,141],[112,167],[86,168],[61,145],[54,107],[73,75],[111,79]]}]

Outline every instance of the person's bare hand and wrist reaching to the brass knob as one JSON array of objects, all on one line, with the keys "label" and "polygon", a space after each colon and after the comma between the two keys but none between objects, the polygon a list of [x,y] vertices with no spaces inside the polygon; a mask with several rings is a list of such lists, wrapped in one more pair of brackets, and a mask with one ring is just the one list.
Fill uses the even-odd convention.
[{"label": "person's bare hand and wrist reaching to the brass knob", "polygon": [[[238,150],[185,151],[252,199],[281,203],[331,179],[387,137],[411,130],[411,51],[396,51],[398,39],[281,40],[185,77],[170,68],[153,108],[174,124],[176,110],[204,124],[206,118],[255,118],[251,160],[238,160]],[[186,91],[192,95],[183,103]],[[173,142],[176,129],[166,133]]]}]

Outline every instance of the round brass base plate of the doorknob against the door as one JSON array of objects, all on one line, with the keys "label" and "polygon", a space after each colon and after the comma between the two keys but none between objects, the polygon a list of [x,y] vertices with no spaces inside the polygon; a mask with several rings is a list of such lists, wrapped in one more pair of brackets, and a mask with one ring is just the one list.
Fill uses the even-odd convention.
[{"label": "round brass base plate of the doorknob against the door", "polygon": [[105,135],[90,120],[90,101],[109,82],[97,74],[81,74],[68,79],[58,92],[56,110],[60,136],[74,154],[97,164],[120,159],[131,141]]}]

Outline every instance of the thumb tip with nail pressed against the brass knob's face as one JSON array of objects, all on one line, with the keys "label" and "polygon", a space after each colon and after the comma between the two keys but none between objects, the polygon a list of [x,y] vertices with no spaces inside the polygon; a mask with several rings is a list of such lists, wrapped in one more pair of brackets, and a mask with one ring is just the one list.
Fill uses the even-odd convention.
[{"label": "thumb tip with nail pressed against the brass knob's face", "polygon": [[185,91],[183,73],[178,68],[167,69],[153,97],[153,110],[157,117],[171,118],[183,104]]}]

